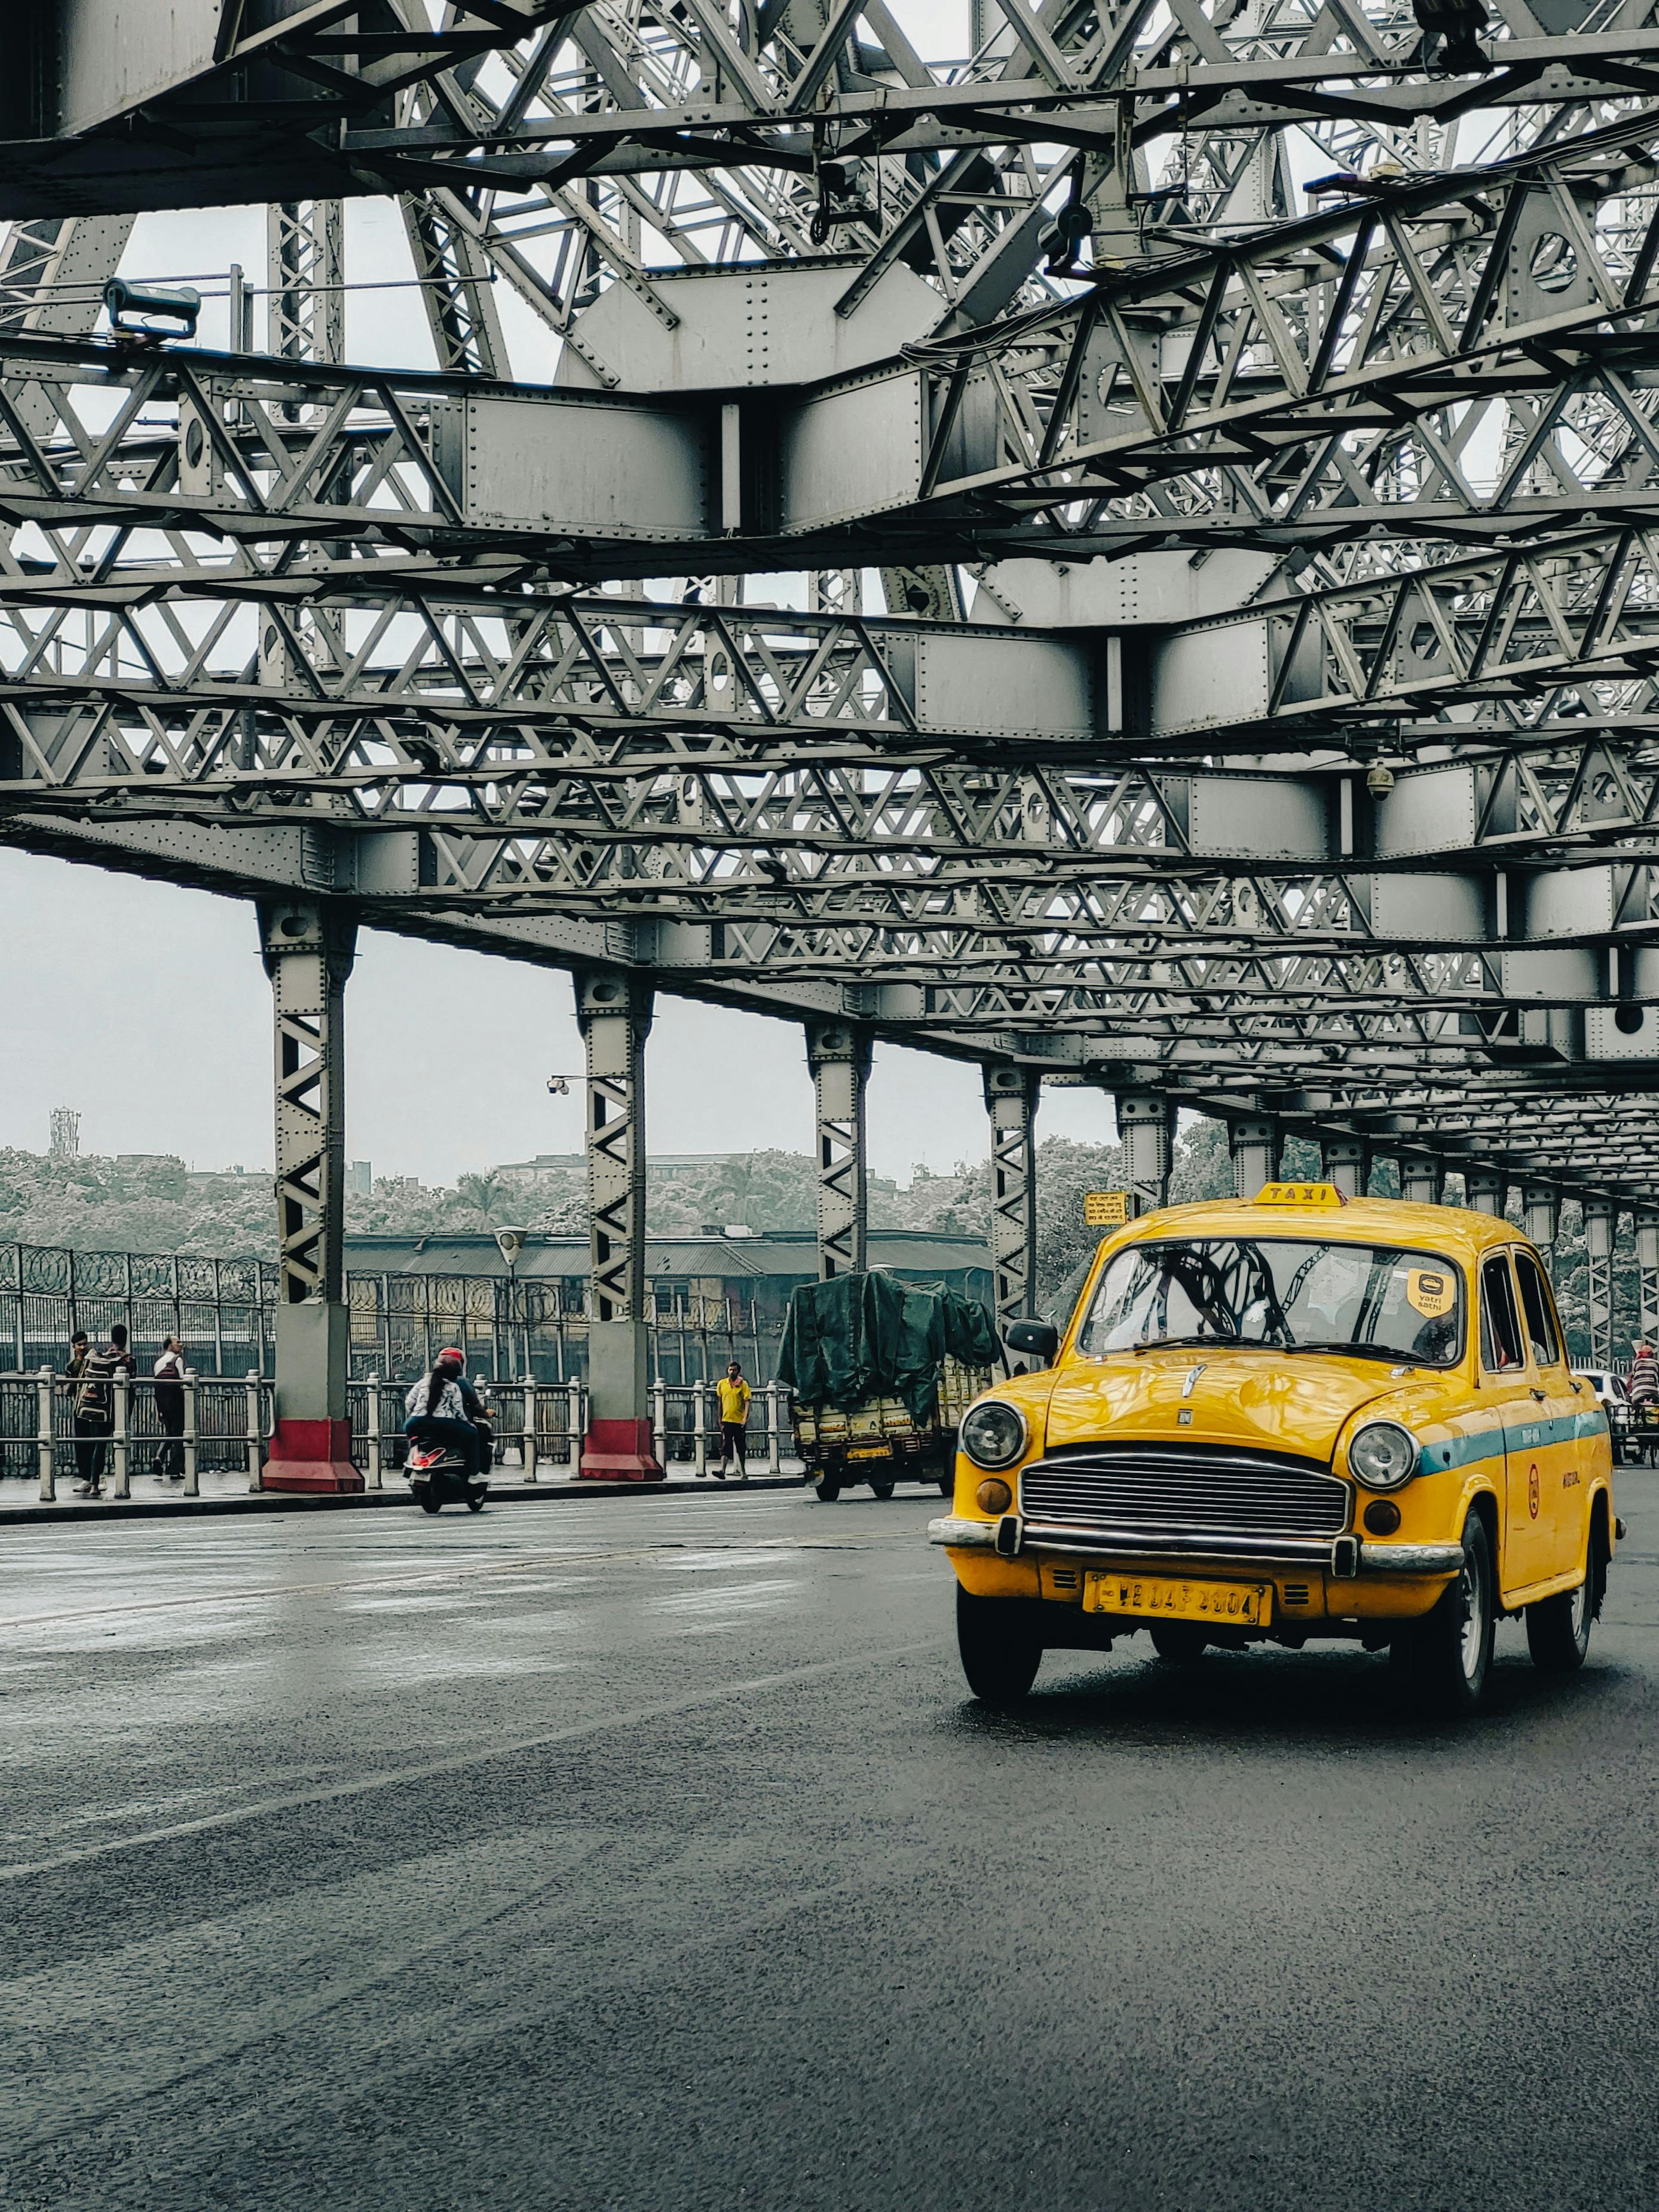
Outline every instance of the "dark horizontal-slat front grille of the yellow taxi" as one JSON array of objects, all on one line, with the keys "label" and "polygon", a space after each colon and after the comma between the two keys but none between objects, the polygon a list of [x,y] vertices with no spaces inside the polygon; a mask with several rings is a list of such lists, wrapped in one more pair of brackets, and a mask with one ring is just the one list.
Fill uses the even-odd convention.
[{"label": "dark horizontal-slat front grille of the yellow taxi", "polygon": [[1029,1522],[1133,1535],[1338,1535],[1347,1484],[1318,1460],[1208,1444],[1079,1444],[1020,1475]]}]

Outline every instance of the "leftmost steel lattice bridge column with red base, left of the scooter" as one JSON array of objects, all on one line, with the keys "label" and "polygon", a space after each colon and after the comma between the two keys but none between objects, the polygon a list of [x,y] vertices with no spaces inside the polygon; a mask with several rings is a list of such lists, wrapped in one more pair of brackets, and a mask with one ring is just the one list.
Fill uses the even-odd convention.
[{"label": "leftmost steel lattice bridge column with red base, left of the scooter", "polygon": [[276,1015],[276,1431],[268,1491],[361,1491],[345,1383],[345,978],[356,920],[261,900]]}]

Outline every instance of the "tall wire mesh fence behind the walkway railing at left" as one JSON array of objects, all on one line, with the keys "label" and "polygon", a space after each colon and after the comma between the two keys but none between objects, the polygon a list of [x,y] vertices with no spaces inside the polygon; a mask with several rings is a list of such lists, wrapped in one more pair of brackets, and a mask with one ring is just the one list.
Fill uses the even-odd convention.
[{"label": "tall wire mesh fence behind the walkway railing at left", "polygon": [[[568,1279],[352,1272],[345,1294],[354,1380],[414,1380],[445,1345],[491,1383],[529,1374],[564,1385],[588,1369],[582,1292]],[[270,1376],[274,1314],[270,1261],[0,1245],[0,1367],[11,1374],[58,1367],[75,1329],[106,1338],[122,1321],[144,1365],[177,1336],[199,1376],[241,1380],[250,1367]],[[776,1374],[779,1332],[743,1298],[653,1298],[648,1323],[653,1380],[686,1389],[732,1358],[750,1383]]]}]

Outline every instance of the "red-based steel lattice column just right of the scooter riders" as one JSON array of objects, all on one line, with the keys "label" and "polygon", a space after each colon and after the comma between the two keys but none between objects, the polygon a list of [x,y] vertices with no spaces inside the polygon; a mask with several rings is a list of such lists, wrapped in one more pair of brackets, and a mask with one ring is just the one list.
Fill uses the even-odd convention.
[{"label": "red-based steel lattice column just right of the scooter riders", "polygon": [[646,1321],[646,1035],[653,993],[630,975],[577,975],[588,1053],[588,1433],[582,1473],[659,1482]]}]

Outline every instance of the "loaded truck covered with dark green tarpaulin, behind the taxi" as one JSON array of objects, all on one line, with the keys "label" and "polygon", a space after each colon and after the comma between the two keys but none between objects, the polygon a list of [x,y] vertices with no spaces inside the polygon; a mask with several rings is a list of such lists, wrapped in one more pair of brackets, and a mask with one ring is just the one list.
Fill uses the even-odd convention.
[{"label": "loaded truck covered with dark green tarpaulin, behind the taxi", "polygon": [[876,1498],[900,1480],[949,1495],[958,1425],[1000,1365],[991,1314],[951,1290],[883,1272],[803,1283],[783,1321],[779,1380],[807,1482],[825,1504],[854,1482]]}]

